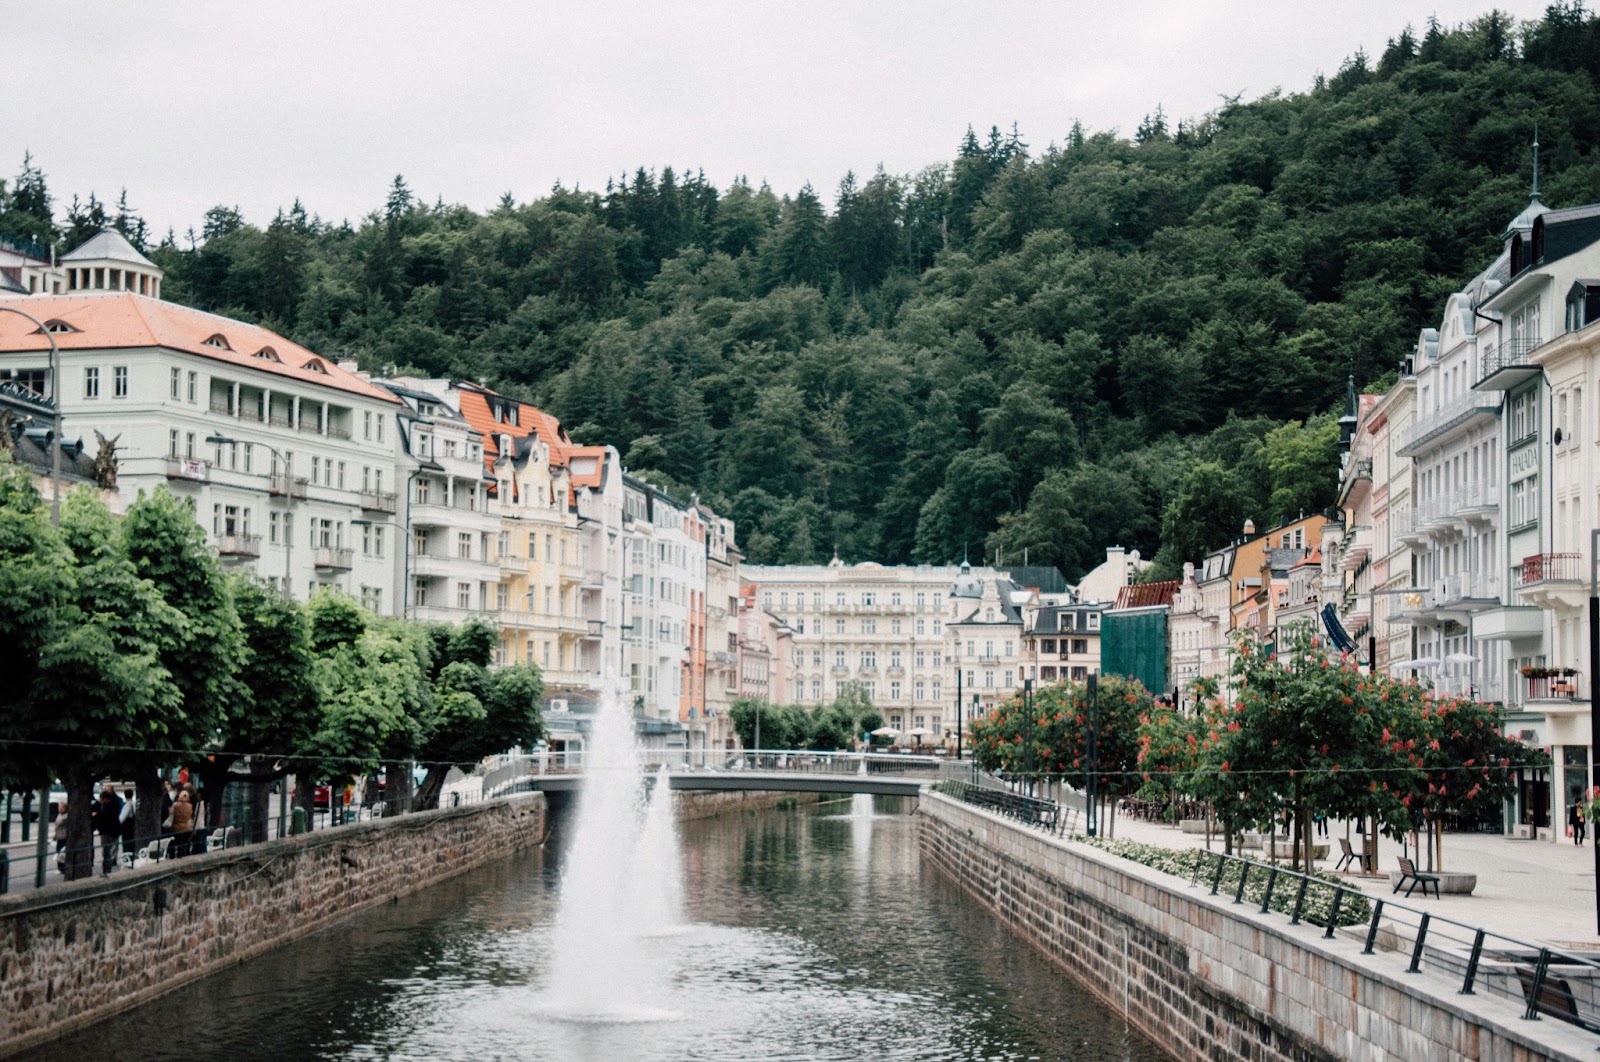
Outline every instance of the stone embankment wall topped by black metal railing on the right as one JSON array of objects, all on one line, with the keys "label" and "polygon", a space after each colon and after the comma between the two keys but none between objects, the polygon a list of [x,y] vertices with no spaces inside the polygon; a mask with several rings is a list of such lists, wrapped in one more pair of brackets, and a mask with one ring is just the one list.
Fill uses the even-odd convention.
[{"label": "stone embankment wall topped by black metal railing on the right", "polygon": [[[923,859],[1178,1059],[1594,1059],[1597,1038],[1165,873],[925,793]],[[1387,966],[1384,966],[1387,963]]]}]

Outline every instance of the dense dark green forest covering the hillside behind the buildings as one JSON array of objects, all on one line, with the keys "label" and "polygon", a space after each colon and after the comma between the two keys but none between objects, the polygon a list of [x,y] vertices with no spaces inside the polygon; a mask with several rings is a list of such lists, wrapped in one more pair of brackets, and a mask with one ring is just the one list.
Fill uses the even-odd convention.
[{"label": "dense dark green forest covering the hillside behind the buildings", "polygon": [[1597,78],[1570,3],[1406,29],[1133,138],[968,133],[830,203],[664,166],[480,213],[397,178],[360,224],[218,206],[157,240],[126,194],[62,206],[26,160],[0,238],[114,224],[171,299],[531,398],[734,517],[755,561],[1077,576],[1122,544],[1170,574],[1333,501],[1347,376],[1381,385],[1493,258],[1536,126],[1546,202],[1600,198]]}]

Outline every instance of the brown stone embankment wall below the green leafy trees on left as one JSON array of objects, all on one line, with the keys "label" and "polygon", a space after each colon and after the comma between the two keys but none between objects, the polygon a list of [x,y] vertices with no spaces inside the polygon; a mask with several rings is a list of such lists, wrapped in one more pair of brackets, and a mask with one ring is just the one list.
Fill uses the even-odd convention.
[{"label": "brown stone embankment wall below the green leafy trees on left", "polygon": [[526,793],[0,896],[0,1056],[542,836]]}]

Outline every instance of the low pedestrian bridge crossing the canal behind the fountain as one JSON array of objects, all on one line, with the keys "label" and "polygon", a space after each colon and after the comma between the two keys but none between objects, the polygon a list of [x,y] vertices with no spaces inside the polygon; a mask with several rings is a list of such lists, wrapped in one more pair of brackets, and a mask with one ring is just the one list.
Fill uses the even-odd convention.
[{"label": "low pedestrian bridge crossing the canal behind the fountain", "polygon": [[[707,753],[702,750],[646,752],[645,776],[667,768],[667,784],[682,790],[776,793],[870,793],[915,796],[939,781],[944,757],[893,753]],[[954,765],[952,765],[954,766]],[[517,757],[488,771],[485,796],[506,793],[571,793],[584,781],[582,753]]]}]

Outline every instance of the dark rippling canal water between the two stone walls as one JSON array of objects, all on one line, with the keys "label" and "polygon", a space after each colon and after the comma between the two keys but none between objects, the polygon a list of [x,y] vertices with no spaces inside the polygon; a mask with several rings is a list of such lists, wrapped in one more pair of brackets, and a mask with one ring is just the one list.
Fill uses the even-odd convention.
[{"label": "dark rippling canal water between the two stone walls", "polygon": [[368,912],[27,1057],[1074,1059],[1149,1041],[917,857],[878,800],[682,827],[683,932],[659,937],[667,1008],[574,1024],[541,1006],[557,852]]}]

